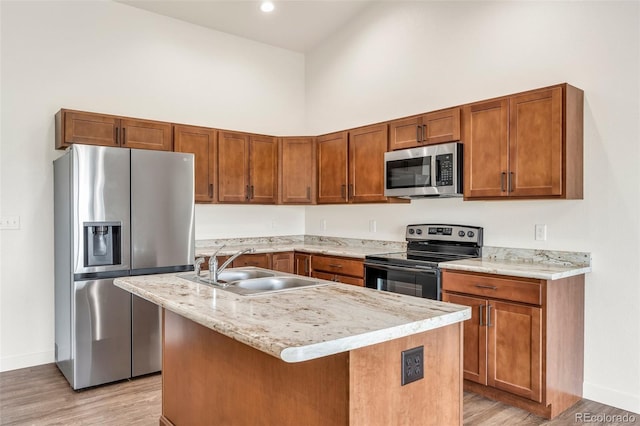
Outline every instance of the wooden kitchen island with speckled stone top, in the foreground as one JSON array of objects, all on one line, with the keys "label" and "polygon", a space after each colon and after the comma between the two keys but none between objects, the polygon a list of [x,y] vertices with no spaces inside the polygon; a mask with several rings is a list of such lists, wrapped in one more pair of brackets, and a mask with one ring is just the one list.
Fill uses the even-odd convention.
[{"label": "wooden kitchen island with speckled stone top, in the foreground", "polygon": [[[115,284],[163,307],[160,424],[462,424],[468,307],[328,281],[258,296],[175,274]],[[405,369],[424,377],[402,385],[420,347]]]}]

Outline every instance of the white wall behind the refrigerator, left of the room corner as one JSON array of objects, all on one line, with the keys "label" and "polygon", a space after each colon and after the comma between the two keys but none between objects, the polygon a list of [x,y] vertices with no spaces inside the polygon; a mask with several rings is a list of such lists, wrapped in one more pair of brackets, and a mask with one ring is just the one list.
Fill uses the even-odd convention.
[{"label": "white wall behind the refrigerator, left of the room corner", "polygon": [[[53,361],[54,114],[301,133],[304,57],[111,1],[0,8],[1,214],[21,219],[20,230],[0,232],[0,370],[11,370]],[[241,227],[236,210],[198,206],[197,238]],[[252,209],[249,233],[304,232],[304,209],[282,221],[265,211]]]}]

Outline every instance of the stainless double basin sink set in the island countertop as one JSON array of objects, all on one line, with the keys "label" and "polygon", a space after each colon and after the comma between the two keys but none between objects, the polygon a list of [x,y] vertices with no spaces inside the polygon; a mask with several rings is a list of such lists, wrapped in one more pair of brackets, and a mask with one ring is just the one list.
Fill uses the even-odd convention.
[{"label": "stainless double basin sink set in the island countertop", "polygon": [[208,284],[215,288],[243,296],[273,293],[304,287],[317,287],[327,284],[325,281],[312,278],[284,275],[268,269],[253,267],[225,269],[218,274],[217,283],[209,280],[208,272],[201,273],[199,277],[196,277],[193,272],[180,274],[178,276],[189,281]]}]

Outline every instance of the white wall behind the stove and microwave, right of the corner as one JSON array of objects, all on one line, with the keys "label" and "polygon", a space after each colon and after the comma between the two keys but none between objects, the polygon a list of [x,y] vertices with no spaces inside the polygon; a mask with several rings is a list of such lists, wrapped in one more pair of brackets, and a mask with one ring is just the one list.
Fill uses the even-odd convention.
[{"label": "white wall behind the stove and microwave, right of the corner", "polygon": [[[319,206],[306,232],[402,240],[408,223],[485,228],[492,246],[588,251],[586,398],[640,412],[640,19],[637,2],[384,2],[307,55],[322,134],[569,82],[585,91],[581,201]],[[378,232],[369,232],[369,221]],[[534,224],[548,240],[534,240]]]}]

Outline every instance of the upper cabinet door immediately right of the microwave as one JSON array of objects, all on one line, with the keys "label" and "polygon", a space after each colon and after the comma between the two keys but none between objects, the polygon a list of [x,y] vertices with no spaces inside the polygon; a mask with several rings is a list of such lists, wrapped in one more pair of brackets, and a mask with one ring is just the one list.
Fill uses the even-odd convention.
[{"label": "upper cabinet door immediately right of the microwave", "polygon": [[467,105],[464,131],[464,196],[507,195],[508,99]]}]

